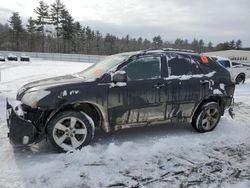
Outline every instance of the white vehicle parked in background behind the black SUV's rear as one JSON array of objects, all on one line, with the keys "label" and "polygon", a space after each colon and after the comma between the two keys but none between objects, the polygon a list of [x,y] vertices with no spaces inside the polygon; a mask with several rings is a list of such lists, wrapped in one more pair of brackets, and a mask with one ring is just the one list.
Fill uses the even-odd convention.
[{"label": "white vehicle parked in background behind the black SUV's rear", "polygon": [[212,58],[230,72],[236,84],[244,83],[247,78],[250,78],[250,65],[232,62],[225,57],[213,56]]}]

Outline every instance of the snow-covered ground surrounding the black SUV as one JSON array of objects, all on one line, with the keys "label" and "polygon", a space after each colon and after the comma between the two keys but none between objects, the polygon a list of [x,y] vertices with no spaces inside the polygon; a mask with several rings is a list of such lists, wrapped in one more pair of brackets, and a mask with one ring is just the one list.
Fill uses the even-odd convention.
[{"label": "snow-covered ground surrounding the black SUV", "polygon": [[23,84],[78,72],[90,64],[0,63],[0,187],[250,187],[250,80],[235,93],[235,113],[210,133],[189,125],[96,133],[90,146],[55,153],[42,142],[13,148],[7,138],[5,98]]}]

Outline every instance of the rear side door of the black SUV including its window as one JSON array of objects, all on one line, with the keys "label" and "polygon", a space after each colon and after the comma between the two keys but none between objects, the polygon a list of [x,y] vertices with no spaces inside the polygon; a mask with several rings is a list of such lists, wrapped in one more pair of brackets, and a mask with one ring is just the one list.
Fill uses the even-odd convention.
[{"label": "rear side door of the black SUV including its window", "polygon": [[167,117],[185,119],[190,117],[197,101],[203,97],[203,87],[208,87],[209,83],[204,80],[204,74],[198,62],[188,55],[169,55],[168,77],[165,84],[169,85],[172,91],[172,98],[167,106]]}]

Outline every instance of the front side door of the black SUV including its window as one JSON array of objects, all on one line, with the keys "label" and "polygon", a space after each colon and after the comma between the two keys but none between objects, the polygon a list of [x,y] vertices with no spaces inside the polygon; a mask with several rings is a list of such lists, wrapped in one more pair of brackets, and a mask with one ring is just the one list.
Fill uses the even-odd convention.
[{"label": "front side door of the black SUV including its window", "polygon": [[[127,73],[127,82],[124,87],[110,88],[109,93],[113,96],[116,93],[122,104],[109,109],[110,123],[128,125],[164,120],[165,85],[161,77],[161,57],[138,57],[121,70]],[[109,98],[109,103],[114,100]]]}]

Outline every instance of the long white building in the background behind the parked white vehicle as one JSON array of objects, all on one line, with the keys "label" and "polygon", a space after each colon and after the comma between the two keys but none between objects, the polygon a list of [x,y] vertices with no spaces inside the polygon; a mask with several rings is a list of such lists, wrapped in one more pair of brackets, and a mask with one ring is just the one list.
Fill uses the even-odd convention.
[{"label": "long white building in the background behind the parked white vehicle", "polygon": [[224,50],[204,53],[207,56],[227,57],[235,62],[250,63],[250,51],[247,50]]}]

